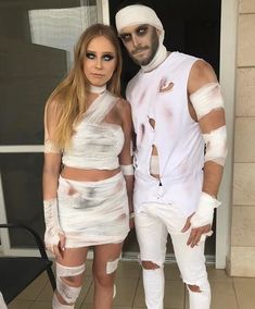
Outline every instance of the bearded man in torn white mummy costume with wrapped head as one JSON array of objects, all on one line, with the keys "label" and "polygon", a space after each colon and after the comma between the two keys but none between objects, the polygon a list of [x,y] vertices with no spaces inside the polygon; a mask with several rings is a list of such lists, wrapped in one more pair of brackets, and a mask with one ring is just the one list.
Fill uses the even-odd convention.
[{"label": "bearded man in torn white mummy costume with wrapped head", "polygon": [[166,50],[163,25],[151,8],[120,9],[116,27],[141,66],[127,86],[127,99],[137,139],[135,222],[146,307],[163,309],[169,233],[190,308],[208,309],[204,244],[212,235],[227,156],[220,86],[205,61]]}]

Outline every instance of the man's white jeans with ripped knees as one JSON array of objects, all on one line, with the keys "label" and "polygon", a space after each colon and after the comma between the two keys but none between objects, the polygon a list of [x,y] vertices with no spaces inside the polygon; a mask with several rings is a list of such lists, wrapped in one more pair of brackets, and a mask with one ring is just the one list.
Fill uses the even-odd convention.
[{"label": "man's white jeans with ripped knees", "polygon": [[174,252],[181,277],[187,285],[196,285],[200,292],[191,292],[190,309],[209,309],[211,288],[205,267],[204,244],[187,246],[190,230],[182,233],[187,221],[178,207],[169,203],[150,202],[136,213],[136,233],[141,261],[151,261],[160,268],[143,269],[143,286],[148,309],[163,309],[164,269],[167,235],[170,234]]}]

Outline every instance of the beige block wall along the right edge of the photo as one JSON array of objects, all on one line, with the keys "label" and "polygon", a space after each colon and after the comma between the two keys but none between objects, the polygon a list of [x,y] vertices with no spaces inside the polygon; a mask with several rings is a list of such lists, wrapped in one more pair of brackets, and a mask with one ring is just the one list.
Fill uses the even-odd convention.
[{"label": "beige block wall along the right edge of the photo", "polygon": [[255,0],[240,0],[229,272],[255,276]]}]

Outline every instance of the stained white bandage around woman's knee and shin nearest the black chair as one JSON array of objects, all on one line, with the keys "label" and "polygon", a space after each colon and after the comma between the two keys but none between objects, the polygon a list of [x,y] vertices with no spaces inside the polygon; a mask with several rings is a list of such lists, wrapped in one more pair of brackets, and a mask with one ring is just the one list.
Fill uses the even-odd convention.
[{"label": "stained white bandage around woman's knee and shin nearest the black chair", "polygon": [[85,264],[79,267],[63,267],[56,263],[56,289],[67,304],[74,304],[79,296],[81,286],[69,286],[63,281],[65,276],[76,276],[85,271]]}]

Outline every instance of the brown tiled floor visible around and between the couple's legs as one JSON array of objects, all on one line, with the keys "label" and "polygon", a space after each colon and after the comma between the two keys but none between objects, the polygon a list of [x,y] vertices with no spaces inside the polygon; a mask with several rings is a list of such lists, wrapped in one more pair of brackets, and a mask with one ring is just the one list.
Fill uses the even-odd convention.
[{"label": "brown tiled floor visible around and between the couple's legs", "polygon": [[[165,309],[187,309],[188,297],[176,264],[165,265]],[[208,265],[212,309],[255,309],[255,279],[229,277],[224,270]],[[137,262],[122,261],[116,277],[114,309],[143,309],[141,269]],[[91,261],[76,309],[92,309]],[[52,289],[46,274],[38,277],[9,305],[9,309],[51,309]]]}]

